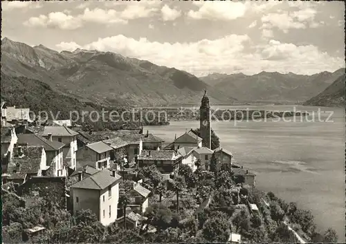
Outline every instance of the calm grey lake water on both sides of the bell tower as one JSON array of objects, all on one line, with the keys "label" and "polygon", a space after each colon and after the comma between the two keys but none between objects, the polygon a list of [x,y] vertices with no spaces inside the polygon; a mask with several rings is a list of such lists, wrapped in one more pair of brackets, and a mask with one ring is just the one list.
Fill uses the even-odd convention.
[{"label": "calm grey lake water on both sides of the bell tower", "polygon": [[[219,106],[221,109],[260,109],[293,111],[293,106]],[[336,229],[339,242],[345,242],[345,109],[333,111],[329,120],[318,121],[318,107],[296,106],[315,111],[315,122],[228,121],[212,122],[221,147],[233,152],[235,162],[256,173],[259,189],[273,191],[286,201],[311,209],[318,228]],[[321,113],[325,121],[329,112]],[[309,116],[311,120],[312,114]],[[289,118],[286,118],[289,119]],[[146,126],[145,130],[166,142],[199,127],[198,121],[171,122],[167,126]]]}]

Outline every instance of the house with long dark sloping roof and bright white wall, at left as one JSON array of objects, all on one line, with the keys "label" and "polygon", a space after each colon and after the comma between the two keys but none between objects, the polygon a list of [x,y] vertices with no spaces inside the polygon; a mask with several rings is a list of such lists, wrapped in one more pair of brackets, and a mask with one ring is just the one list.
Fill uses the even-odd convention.
[{"label": "house with long dark sloping roof and bright white wall, at left", "polygon": [[66,176],[66,169],[62,163],[62,148],[64,147],[62,142],[53,141],[51,137],[47,140],[41,135],[29,133],[19,134],[17,145],[43,146],[46,151],[46,166],[50,167],[46,172],[47,176]]}]

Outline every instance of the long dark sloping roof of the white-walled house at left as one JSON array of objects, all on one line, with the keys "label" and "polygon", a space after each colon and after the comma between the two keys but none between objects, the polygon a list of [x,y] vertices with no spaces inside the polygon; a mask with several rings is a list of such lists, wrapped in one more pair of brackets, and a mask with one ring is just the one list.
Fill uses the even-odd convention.
[{"label": "long dark sloping roof of the white-walled house at left", "polygon": [[57,151],[64,147],[64,143],[47,140],[37,134],[19,134],[17,135],[17,144],[27,144],[28,146],[43,146],[45,151]]}]

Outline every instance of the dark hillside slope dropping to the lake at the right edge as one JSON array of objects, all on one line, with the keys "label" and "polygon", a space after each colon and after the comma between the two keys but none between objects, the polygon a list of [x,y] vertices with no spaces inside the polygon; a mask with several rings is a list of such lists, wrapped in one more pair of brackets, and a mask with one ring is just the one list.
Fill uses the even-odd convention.
[{"label": "dark hillside slope dropping to the lake at the right edge", "polygon": [[345,106],[345,75],[340,75],[325,91],[304,102],[311,106]]}]

